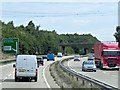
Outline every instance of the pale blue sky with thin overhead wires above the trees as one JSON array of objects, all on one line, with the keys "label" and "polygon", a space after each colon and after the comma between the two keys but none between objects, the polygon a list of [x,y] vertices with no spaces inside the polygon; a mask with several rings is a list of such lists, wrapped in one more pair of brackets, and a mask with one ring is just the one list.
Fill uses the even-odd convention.
[{"label": "pale blue sky with thin overhead wires above the trees", "polygon": [[91,33],[101,41],[114,41],[118,2],[2,2],[0,15],[15,26],[32,20],[40,29],[58,34]]}]

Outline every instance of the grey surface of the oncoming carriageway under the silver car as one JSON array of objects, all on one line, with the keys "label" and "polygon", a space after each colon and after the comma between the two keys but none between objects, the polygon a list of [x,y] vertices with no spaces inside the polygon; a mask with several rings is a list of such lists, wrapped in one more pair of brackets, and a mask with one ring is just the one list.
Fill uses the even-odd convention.
[{"label": "grey surface of the oncoming carriageway under the silver car", "polygon": [[71,70],[76,71],[77,73],[86,75],[92,79],[96,79],[98,81],[104,82],[113,87],[116,87],[116,88],[119,87],[118,86],[118,81],[120,80],[120,77],[118,77],[120,75],[119,71],[97,69],[96,72],[83,72],[82,71],[82,62],[84,60],[87,60],[87,57],[81,58],[81,61],[70,60],[65,65],[68,66]]}]

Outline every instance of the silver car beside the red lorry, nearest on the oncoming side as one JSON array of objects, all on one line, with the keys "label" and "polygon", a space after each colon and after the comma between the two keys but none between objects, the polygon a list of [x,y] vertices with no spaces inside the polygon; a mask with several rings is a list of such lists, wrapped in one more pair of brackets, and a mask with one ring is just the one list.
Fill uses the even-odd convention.
[{"label": "silver car beside the red lorry, nearest on the oncoming side", "polygon": [[94,71],[96,72],[96,65],[93,60],[84,61],[82,63],[82,71]]}]

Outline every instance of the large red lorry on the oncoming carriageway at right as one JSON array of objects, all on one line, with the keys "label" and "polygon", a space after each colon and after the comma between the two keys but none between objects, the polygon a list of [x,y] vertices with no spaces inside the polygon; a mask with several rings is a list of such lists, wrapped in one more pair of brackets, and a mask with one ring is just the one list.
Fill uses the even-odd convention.
[{"label": "large red lorry on the oncoming carriageway at right", "polygon": [[120,67],[120,48],[117,43],[98,43],[94,45],[96,67],[117,69]]}]

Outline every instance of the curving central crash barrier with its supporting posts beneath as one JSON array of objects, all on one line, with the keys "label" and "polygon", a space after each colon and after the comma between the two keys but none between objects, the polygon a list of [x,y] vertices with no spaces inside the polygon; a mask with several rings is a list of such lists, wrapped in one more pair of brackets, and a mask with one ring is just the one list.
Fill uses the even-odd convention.
[{"label": "curving central crash barrier with its supporting posts beneath", "polygon": [[61,67],[61,69],[67,73],[70,77],[72,77],[72,79],[76,79],[77,82],[81,83],[82,85],[86,85],[86,86],[95,86],[96,88],[100,89],[100,90],[118,90],[118,88],[112,87],[106,83],[103,83],[101,81],[92,79],[90,77],[87,77],[85,75],[82,75],[80,73],[77,73],[73,70],[71,70],[69,67],[64,66],[64,62],[73,59],[73,57],[69,58],[69,59],[64,59],[61,60],[59,62],[59,65]]}]

